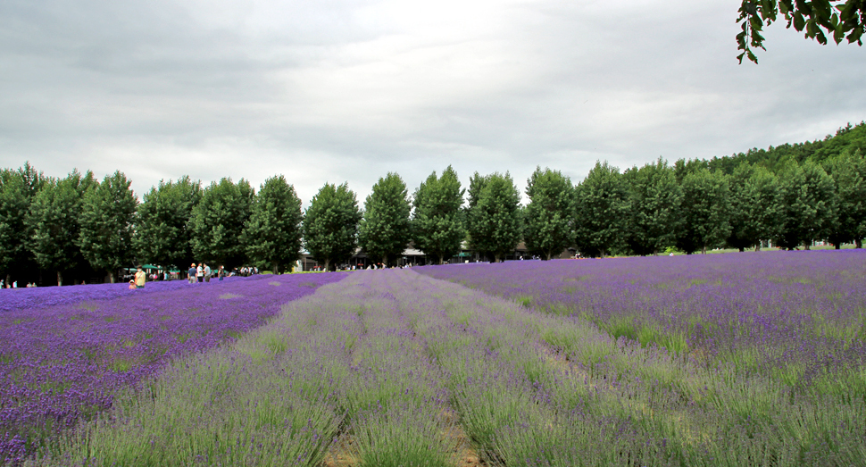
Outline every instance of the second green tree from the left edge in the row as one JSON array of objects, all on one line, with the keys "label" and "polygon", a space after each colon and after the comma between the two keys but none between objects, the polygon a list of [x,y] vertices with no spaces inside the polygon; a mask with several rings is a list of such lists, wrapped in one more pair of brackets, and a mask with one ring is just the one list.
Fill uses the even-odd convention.
[{"label": "second green tree from the left edge in the row", "polygon": [[72,171],[65,179],[48,179],[29,207],[29,249],[39,267],[56,271],[57,285],[63,272],[84,261],[79,248],[80,217],[87,192],[99,181],[93,173]]}]

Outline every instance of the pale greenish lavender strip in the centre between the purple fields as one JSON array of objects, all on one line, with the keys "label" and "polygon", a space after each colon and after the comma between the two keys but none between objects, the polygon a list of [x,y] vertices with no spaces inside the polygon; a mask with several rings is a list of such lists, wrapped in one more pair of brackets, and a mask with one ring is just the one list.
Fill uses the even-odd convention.
[{"label": "pale greenish lavender strip in the centre between the purple fields", "polygon": [[[645,345],[551,311],[416,271],[354,272],[115,396],[32,463],[862,463],[862,367],[828,368],[797,389],[761,364],[719,354],[707,364],[692,347]],[[760,363],[775,351],[753,352]],[[827,381],[836,392],[817,389]]]}]

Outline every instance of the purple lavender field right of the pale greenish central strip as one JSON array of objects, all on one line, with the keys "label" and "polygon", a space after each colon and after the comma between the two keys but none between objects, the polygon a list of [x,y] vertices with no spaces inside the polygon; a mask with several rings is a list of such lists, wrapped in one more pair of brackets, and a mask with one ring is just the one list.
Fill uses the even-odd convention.
[{"label": "purple lavender field right of the pale greenish central strip", "polygon": [[512,262],[424,274],[579,316],[613,338],[803,388],[866,364],[866,253],[765,252]]}]

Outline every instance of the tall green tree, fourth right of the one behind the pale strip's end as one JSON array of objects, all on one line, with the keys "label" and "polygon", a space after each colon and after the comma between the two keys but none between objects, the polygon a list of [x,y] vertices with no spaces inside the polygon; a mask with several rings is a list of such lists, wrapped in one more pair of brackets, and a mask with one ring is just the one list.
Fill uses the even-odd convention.
[{"label": "tall green tree, fourth right of the one behind the pale strip's end", "polygon": [[625,244],[628,185],[616,167],[595,162],[575,187],[575,238],[581,254],[604,256]]}]

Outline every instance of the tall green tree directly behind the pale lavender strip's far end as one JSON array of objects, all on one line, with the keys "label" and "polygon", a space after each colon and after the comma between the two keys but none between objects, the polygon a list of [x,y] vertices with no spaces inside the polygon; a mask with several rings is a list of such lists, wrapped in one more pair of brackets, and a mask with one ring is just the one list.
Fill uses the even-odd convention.
[{"label": "tall green tree directly behind the pale lavender strip's far end", "polygon": [[364,202],[358,231],[364,251],[383,264],[393,263],[412,240],[411,212],[412,203],[405,182],[396,173],[388,172],[373,185]]}]

